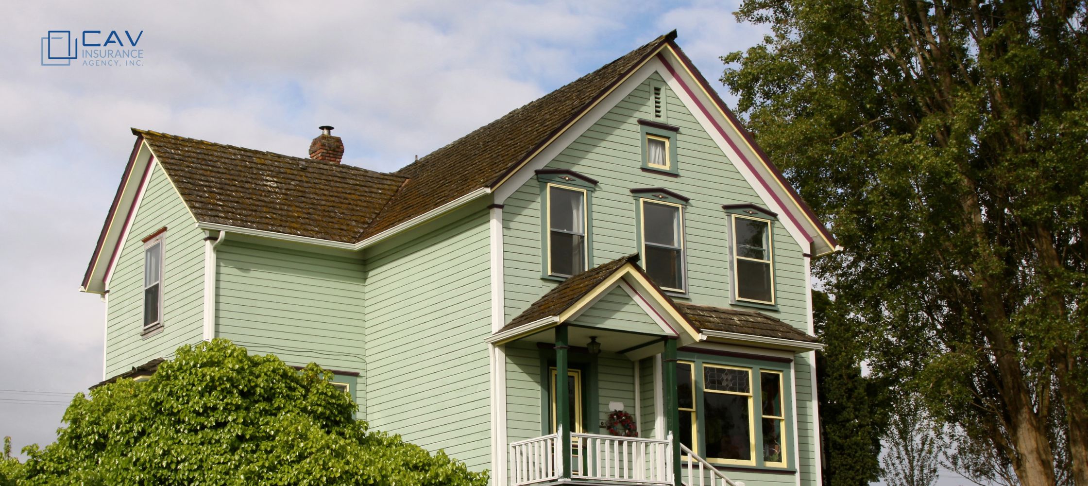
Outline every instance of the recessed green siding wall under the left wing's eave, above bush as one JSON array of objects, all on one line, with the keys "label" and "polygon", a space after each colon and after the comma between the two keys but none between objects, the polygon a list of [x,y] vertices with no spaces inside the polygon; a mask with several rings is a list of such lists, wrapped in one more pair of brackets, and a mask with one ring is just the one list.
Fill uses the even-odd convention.
[{"label": "recessed green siding wall under the left wing's eave, above bush", "polygon": [[350,385],[364,418],[361,259],[234,238],[217,248],[215,336],[290,365],[359,373]]}]

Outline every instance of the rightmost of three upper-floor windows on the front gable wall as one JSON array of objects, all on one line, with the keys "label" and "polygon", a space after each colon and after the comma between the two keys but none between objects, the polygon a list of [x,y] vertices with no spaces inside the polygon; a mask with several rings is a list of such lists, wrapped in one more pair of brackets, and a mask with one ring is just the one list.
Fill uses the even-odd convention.
[{"label": "rightmost of three upper-floor windows on the front gable wall", "polygon": [[733,287],[738,301],[775,304],[770,221],[732,215]]}]

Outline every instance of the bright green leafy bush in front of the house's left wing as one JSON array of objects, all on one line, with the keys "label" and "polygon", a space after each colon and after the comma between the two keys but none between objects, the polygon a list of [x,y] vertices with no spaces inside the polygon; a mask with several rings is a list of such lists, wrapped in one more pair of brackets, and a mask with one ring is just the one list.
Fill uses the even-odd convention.
[{"label": "bright green leafy bush in front of the house's left wing", "polygon": [[77,394],[57,442],[24,450],[18,484],[486,485],[441,451],[367,430],[330,377],[226,340],[182,347],[146,381]]}]

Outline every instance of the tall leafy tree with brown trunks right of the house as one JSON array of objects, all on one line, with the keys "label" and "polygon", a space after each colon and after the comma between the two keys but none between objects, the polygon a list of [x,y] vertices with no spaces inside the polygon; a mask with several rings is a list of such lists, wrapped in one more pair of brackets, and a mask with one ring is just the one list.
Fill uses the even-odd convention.
[{"label": "tall leafy tree with brown trunks right of the house", "polygon": [[[1084,1],[747,0],[721,78],[845,248],[874,370],[1025,486],[1088,486]],[[1067,474],[1067,475],[1066,475]]]}]

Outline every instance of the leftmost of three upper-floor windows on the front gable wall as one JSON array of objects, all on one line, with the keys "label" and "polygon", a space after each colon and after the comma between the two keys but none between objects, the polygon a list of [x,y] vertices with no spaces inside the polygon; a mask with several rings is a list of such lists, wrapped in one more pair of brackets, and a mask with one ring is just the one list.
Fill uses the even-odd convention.
[{"label": "leftmost of three upper-floor windows on the front gable wall", "polygon": [[570,277],[588,265],[585,191],[547,185],[547,275]]}]

